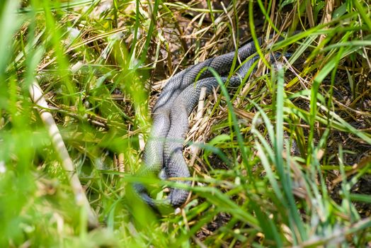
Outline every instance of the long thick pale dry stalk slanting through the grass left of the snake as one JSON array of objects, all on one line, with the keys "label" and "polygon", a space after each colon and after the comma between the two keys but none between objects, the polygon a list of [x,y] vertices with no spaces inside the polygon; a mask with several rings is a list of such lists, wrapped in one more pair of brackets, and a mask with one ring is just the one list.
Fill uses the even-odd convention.
[{"label": "long thick pale dry stalk slanting through the grass left of the snake", "polygon": [[62,135],[59,133],[57,124],[55,124],[52,114],[46,111],[49,106],[47,106],[47,102],[45,101],[42,89],[38,84],[38,80],[40,80],[40,77],[36,77],[35,81],[33,81],[33,84],[30,85],[30,98],[36,104],[36,106],[40,106],[40,108],[38,108],[40,118],[47,128],[47,132],[52,140],[52,145],[55,149],[55,152],[57,152],[60,161],[62,162],[64,171],[67,171],[69,174],[69,184],[71,184],[72,191],[74,192],[76,204],[85,208],[89,227],[98,227],[96,213],[94,213],[89,204],[88,198],[86,198],[84,188],[81,186],[79,177],[76,174],[72,159],[69,157],[66,145],[64,145]]}]

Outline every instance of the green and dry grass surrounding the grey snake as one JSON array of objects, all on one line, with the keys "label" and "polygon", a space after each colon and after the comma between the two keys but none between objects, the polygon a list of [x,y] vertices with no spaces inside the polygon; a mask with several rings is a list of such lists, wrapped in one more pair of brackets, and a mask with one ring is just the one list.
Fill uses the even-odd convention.
[{"label": "green and dry grass surrounding the grey snake", "polygon": [[[1,247],[370,246],[370,3],[197,3],[0,1]],[[274,30],[289,35],[258,49],[253,77],[209,97],[190,202],[153,213],[132,182],[185,187],[135,176],[156,82]],[[36,75],[94,230],[30,100]]]}]

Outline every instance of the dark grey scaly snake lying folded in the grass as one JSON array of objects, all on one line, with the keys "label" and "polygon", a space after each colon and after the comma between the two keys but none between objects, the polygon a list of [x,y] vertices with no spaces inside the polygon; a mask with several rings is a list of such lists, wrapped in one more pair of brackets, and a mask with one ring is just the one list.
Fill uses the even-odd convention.
[{"label": "dark grey scaly snake lying folded in the grass", "polygon": [[[258,38],[258,45],[261,43],[262,39]],[[239,58],[236,60],[239,69],[232,77],[227,77],[236,55]],[[249,60],[246,60],[248,58]],[[183,143],[189,129],[188,116],[198,103],[201,89],[205,88],[206,94],[210,94],[219,85],[217,79],[213,77],[212,70],[207,68],[214,69],[224,84],[228,81],[229,87],[235,87],[241,84],[253,62],[258,58],[256,45],[251,41],[234,52],[212,57],[173,75],[166,82],[152,108],[152,128],[144,147],[143,163],[137,175],[159,176],[160,172],[164,171],[161,179],[176,178],[173,181],[183,184],[186,186],[184,188],[190,188],[190,180],[179,179],[190,178],[188,164],[183,157]],[[195,81],[196,79],[198,81]],[[133,188],[137,196],[153,208],[180,207],[186,202],[189,194],[183,187],[170,188],[167,198],[155,200],[149,196],[143,184],[135,183]]]}]

